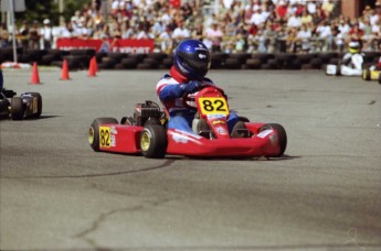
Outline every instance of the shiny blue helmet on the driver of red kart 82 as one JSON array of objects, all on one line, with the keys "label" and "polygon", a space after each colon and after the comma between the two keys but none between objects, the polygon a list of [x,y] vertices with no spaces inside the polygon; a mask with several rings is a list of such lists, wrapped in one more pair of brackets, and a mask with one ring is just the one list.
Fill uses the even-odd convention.
[{"label": "shiny blue helmet on the driver of red kart 82", "polygon": [[202,80],[210,67],[208,47],[198,40],[184,40],[174,51],[174,68],[191,80]]}]

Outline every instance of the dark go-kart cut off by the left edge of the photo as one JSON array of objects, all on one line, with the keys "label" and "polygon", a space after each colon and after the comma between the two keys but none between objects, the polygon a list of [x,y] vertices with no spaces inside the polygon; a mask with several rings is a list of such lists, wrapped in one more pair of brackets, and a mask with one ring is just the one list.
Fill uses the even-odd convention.
[{"label": "dark go-kart cut off by the left edge of the photo", "polygon": [[13,90],[8,89],[0,92],[0,118],[23,120],[41,116],[42,97],[39,92],[24,92],[20,97],[15,95]]}]

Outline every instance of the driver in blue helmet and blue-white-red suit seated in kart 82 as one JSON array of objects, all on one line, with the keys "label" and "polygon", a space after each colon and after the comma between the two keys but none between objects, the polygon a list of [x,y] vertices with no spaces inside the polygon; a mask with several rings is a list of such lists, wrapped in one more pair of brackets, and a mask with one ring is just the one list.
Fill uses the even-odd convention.
[{"label": "driver in blue helmet and blue-white-red suit seated in kart 82", "polygon": [[[174,51],[173,65],[157,84],[156,90],[169,116],[168,128],[189,133],[200,134],[209,130],[207,121],[200,119],[192,130],[192,121],[197,111],[184,107],[182,97],[195,95],[202,86],[213,85],[205,77],[210,66],[210,53],[207,46],[198,40],[182,41]],[[230,111],[227,128],[232,138],[243,137],[239,129],[245,129],[235,112]]]}]

